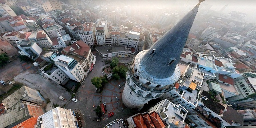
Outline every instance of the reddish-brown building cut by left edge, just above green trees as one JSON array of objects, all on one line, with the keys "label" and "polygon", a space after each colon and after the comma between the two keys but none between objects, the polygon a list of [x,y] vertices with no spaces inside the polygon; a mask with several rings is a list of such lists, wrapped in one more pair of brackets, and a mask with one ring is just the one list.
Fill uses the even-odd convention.
[{"label": "reddish-brown building cut by left edge, just above green trees", "polygon": [[8,56],[18,55],[18,51],[10,43],[5,40],[0,40],[0,54],[7,54]]}]

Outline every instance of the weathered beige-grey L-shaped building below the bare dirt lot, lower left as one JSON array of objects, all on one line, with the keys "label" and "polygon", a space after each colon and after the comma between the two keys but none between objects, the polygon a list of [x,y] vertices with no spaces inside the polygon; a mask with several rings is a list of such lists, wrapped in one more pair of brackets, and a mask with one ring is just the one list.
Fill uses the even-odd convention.
[{"label": "weathered beige-grey L-shaped building below the bare dirt lot, lower left", "polygon": [[43,97],[40,95],[38,91],[33,90],[26,86],[22,86],[17,91],[15,91],[11,95],[3,99],[2,102],[5,108],[9,109],[15,104],[17,104],[18,102],[20,102],[20,100],[24,100],[24,101],[28,101],[36,104],[42,104],[43,102],[45,102],[45,100],[43,99]]}]

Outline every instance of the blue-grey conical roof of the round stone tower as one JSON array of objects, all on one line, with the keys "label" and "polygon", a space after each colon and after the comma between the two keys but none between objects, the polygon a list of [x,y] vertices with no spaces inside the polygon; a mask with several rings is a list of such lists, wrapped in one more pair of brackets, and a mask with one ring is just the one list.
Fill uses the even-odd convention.
[{"label": "blue-grey conical roof of the round stone tower", "polygon": [[199,5],[200,2],[141,57],[140,65],[144,73],[158,79],[173,75]]}]

